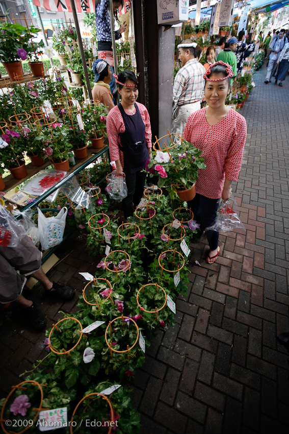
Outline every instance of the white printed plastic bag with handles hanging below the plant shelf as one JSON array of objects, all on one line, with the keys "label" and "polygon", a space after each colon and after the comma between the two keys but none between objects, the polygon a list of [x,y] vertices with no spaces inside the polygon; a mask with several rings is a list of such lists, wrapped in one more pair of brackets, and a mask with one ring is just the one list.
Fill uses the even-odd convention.
[{"label": "white printed plastic bag with handles hanging below the plant shelf", "polygon": [[56,216],[45,217],[38,208],[38,229],[42,249],[57,246],[62,242],[67,208],[64,206]]}]

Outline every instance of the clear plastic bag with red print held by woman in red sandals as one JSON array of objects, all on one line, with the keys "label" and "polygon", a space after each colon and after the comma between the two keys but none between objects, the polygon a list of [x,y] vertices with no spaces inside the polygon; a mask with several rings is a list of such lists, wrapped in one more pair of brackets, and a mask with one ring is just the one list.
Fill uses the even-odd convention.
[{"label": "clear plastic bag with red print held by woman in red sandals", "polygon": [[[232,201],[232,205],[230,201]],[[205,228],[205,232],[212,230],[217,232],[227,232],[232,231],[233,229],[246,230],[239,215],[234,211],[233,207],[237,207],[237,203],[233,196],[231,196],[227,202],[223,202],[223,200],[220,199],[216,221],[214,225]]]}]

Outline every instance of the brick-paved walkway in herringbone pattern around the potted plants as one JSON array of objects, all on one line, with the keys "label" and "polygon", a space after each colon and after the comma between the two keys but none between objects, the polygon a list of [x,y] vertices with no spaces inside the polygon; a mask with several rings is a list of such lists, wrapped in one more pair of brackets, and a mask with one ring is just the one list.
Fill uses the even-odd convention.
[{"label": "brick-paved walkway in herringbone pattern around the potted plants", "polygon": [[[176,324],[151,338],[134,381],[142,434],[288,432],[288,353],[276,336],[289,330],[289,79],[280,88],[265,85],[265,75],[264,66],[241,110],[248,138],[233,190],[246,232],[221,235],[212,265],[204,260],[205,244],[192,246],[190,285],[176,302]],[[48,276],[80,294],[78,273],[93,273],[96,258],[77,234],[57,254],[63,260]],[[38,302],[48,326],[61,318],[58,310],[73,313],[76,303]],[[17,312],[2,318],[0,397],[46,354],[44,333],[25,330]]]}]

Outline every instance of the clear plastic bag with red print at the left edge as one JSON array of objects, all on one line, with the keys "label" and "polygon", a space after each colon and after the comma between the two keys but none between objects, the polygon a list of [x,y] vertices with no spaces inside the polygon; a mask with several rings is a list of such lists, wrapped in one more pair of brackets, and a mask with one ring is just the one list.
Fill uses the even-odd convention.
[{"label": "clear plastic bag with red print at the left edge", "polygon": [[21,223],[0,205],[0,247],[17,247],[24,236]]}]

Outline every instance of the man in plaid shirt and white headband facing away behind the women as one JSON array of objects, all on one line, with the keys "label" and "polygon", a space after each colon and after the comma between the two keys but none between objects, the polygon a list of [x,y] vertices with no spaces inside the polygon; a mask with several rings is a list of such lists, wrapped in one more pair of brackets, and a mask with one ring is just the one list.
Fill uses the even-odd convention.
[{"label": "man in plaid shirt and white headband facing away behind the women", "polygon": [[205,68],[198,62],[202,49],[196,42],[186,39],[177,47],[182,67],[175,77],[173,87],[172,133],[181,135],[189,115],[201,108]]}]

